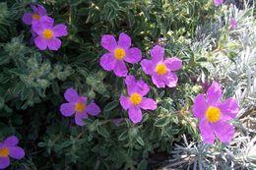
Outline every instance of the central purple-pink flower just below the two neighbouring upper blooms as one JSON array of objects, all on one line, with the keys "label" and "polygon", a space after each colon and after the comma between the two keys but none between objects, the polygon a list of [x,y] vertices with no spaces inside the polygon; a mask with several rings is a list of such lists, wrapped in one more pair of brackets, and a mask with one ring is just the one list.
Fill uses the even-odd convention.
[{"label": "central purple-pink flower just below the two neighbouring upper blooms", "polygon": [[128,96],[121,94],[120,103],[124,110],[128,110],[129,119],[134,123],[142,121],[142,110],[157,109],[157,102],[151,98],[145,97],[150,91],[149,85],[140,80],[136,82],[133,76],[127,76],[125,79]]}]

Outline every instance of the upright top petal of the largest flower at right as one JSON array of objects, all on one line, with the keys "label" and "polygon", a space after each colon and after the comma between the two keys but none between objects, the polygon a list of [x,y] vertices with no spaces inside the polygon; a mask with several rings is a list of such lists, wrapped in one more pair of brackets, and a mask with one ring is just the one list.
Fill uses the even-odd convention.
[{"label": "upright top petal of the largest flower at right", "polygon": [[213,84],[207,90],[207,98],[208,98],[208,104],[214,105],[214,106],[219,104],[222,98],[221,85],[219,85],[216,82],[213,82]]}]

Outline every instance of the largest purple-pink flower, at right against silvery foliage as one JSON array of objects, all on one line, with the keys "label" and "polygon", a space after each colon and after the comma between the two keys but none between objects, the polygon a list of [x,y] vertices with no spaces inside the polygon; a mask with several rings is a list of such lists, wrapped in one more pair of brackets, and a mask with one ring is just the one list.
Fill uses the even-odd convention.
[{"label": "largest purple-pink flower, at right against silvery foliage", "polygon": [[214,143],[217,137],[221,142],[230,142],[234,128],[227,121],[234,119],[239,106],[234,98],[221,101],[221,86],[214,82],[204,94],[198,94],[194,99],[193,113],[200,119],[199,129],[203,141]]}]

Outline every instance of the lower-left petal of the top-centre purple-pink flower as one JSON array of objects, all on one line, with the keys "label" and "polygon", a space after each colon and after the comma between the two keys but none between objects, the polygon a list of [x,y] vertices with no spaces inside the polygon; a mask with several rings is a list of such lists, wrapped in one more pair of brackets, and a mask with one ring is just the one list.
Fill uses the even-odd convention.
[{"label": "lower-left petal of the top-centre purple-pink flower", "polygon": [[117,60],[114,58],[113,54],[111,53],[106,53],[103,54],[100,57],[100,62],[99,65],[106,71],[111,71],[114,69],[115,64]]}]

